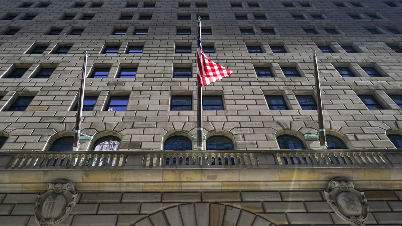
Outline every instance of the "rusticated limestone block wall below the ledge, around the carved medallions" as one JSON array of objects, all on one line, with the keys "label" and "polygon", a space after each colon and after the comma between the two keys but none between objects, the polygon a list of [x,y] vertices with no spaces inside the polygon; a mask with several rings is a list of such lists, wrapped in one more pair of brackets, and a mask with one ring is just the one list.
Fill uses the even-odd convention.
[{"label": "rusticated limestone block wall below the ledge, around the carved medallions", "polygon": [[[399,226],[402,191],[365,191],[367,225]],[[0,225],[36,226],[35,193],[0,194]],[[346,225],[323,191],[80,193],[64,226]]]}]

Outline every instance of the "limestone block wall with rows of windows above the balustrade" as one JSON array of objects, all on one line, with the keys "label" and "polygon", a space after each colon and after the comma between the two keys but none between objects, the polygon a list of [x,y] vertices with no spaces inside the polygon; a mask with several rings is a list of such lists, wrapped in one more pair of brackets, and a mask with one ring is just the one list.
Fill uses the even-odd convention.
[{"label": "limestone block wall with rows of windows above the balustrade", "polygon": [[[101,0],[100,8],[93,1],[30,1],[1,0],[0,4],[0,131],[8,140],[2,150],[47,150],[55,138],[72,134],[74,130],[76,94],[80,84],[83,51],[88,51],[88,73],[94,67],[110,67],[107,78],[88,78],[86,95],[98,96],[94,111],[84,113],[83,132],[90,135],[111,131],[121,137],[121,149],[161,149],[164,140],[174,131],[187,136],[195,134],[196,111],[170,111],[172,95],[191,95],[196,108],[196,16],[209,14],[203,20],[212,35],[203,35],[203,43],[214,45],[211,60],[226,66],[235,74],[205,87],[205,95],[221,95],[224,111],[204,111],[205,133],[228,134],[235,148],[277,149],[276,136],[315,132],[316,111],[301,110],[295,95],[314,95],[312,50],[318,52],[322,92],[326,109],[326,127],[347,144],[348,148],[394,148],[386,133],[400,133],[400,108],[390,94],[400,94],[402,76],[401,53],[388,45],[400,45],[401,2],[390,7],[383,1],[367,0],[361,7],[349,1],[312,0],[310,7],[298,1],[286,8],[281,1],[258,0],[258,8],[248,1],[237,1],[242,8],[232,8],[230,0],[203,1],[207,7],[178,8],[178,0],[157,0],[154,8],[144,8],[145,2]],[[43,3],[41,3],[43,2]],[[128,8],[127,3],[138,3]],[[96,2],[95,2],[96,3]],[[303,2],[301,2],[303,3]],[[353,3],[353,2],[352,2]],[[191,20],[178,20],[178,14],[190,14]],[[32,20],[26,15],[35,14]],[[120,20],[121,15],[133,15]],[[151,20],[139,20],[152,14]],[[235,14],[246,14],[248,20],[236,20]],[[254,15],[264,15],[256,20]],[[321,14],[317,20],[312,15]],[[372,19],[369,15],[377,15]],[[12,20],[4,20],[16,15]],[[72,20],[62,20],[73,15]],[[81,20],[94,15],[92,20]],[[303,15],[297,20],[292,15]],[[358,15],[359,20],[350,15]],[[148,27],[148,35],[133,35],[133,31]],[[176,35],[176,29],[189,27],[191,35]],[[240,27],[254,29],[254,35],[241,35]],[[112,35],[114,28],[127,28],[126,35]],[[263,35],[261,29],[272,28],[275,35]],[[308,35],[303,28],[315,28],[317,35]],[[336,29],[328,35],[324,29]],[[375,28],[381,34],[371,34]],[[5,35],[9,29],[20,29],[15,35]],[[59,35],[49,35],[51,29],[62,29]],[[72,29],[84,29],[81,35],[70,35]],[[31,54],[35,46],[48,46],[42,54]],[[71,45],[67,54],[54,53],[58,46]],[[119,53],[102,53],[107,45],[120,45]],[[127,54],[131,45],[143,45],[142,54]],[[191,45],[191,54],[174,53],[175,46]],[[248,53],[246,45],[259,45],[263,53]],[[273,53],[270,46],[283,45],[287,53]],[[335,53],[322,53],[318,45],[330,45]],[[352,45],[358,53],[346,53],[342,45]],[[172,78],[177,66],[192,66],[193,78]],[[122,66],[137,67],[135,79],[116,78]],[[257,78],[253,66],[270,66],[274,78]],[[281,67],[296,67],[301,78],[285,78]],[[354,78],[343,78],[334,66],[349,66]],[[383,77],[369,77],[361,67],[375,67]],[[5,78],[15,67],[27,67],[22,78]],[[50,78],[33,78],[43,67],[55,67]],[[372,94],[384,110],[368,110],[357,95]],[[8,111],[18,96],[35,96],[25,112]],[[111,95],[129,95],[127,111],[103,111]],[[271,111],[264,95],[283,95],[289,110]],[[107,131],[107,132],[105,132]],[[306,148],[314,148],[306,144]],[[88,145],[90,148],[90,145]],[[84,149],[86,147],[83,147]]]}]

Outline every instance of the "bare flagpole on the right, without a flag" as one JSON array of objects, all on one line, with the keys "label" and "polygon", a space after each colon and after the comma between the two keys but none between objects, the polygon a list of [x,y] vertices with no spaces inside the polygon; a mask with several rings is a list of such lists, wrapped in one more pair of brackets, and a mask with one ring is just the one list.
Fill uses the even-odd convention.
[{"label": "bare flagpole on the right, without a flag", "polygon": [[318,63],[315,50],[313,50],[313,61],[314,61],[314,78],[316,81],[316,96],[317,96],[318,139],[320,140],[321,148],[326,149],[327,146],[325,139],[324,117],[322,116],[321,84],[320,84],[320,76],[318,74]]}]

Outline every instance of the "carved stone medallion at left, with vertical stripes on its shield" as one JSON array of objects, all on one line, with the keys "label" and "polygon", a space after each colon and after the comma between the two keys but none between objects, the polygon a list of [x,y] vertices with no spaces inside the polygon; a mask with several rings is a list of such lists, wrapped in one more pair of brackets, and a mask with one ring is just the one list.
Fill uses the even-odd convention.
[{"label": "carved stone medallion at left, with vertical stripes on its shield", "polygon": [[56,226],[63,222],[76,204],[74,185],[68,180],[49,183],[47,190],[38,193],[35,221],[40,226]]}]

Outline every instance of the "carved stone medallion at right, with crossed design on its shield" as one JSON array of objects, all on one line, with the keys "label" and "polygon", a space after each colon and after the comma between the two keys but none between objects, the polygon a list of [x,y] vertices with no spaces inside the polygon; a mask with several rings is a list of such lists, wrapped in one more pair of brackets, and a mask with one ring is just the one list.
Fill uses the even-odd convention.
[{"label": "carved stone medallion at right, with crossed design on its shield", "polygon": [[333,179],[325,190],[325,198],[332,210],[350,222],[352,226],[364,226],[368,218],[369,205],[361,189],[355,189],[352,181]]}]

